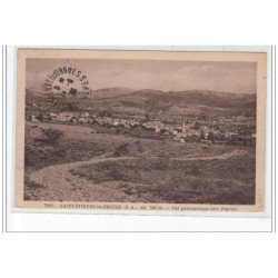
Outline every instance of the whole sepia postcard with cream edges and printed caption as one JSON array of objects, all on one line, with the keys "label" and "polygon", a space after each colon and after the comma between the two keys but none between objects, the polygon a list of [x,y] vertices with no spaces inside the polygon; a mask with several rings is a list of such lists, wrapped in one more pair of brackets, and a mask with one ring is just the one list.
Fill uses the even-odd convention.
[{"label": "whole sepia postcard with cream edges and printed caption", "polygon": [[265,210],[267,53],[17,49],[14,207]]}]

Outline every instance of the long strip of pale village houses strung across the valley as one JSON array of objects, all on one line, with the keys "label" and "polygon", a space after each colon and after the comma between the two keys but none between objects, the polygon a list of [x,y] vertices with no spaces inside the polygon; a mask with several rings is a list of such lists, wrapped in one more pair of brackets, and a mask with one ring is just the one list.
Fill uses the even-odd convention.
[{"label": "long strip of pale village houses strung across the valley", "polygon": [[[206,125],[201,125],[200,128],[196,129],[195,122],[183,121],[181,125],[179,123],[162,123],[157,120],[151,121],[140,121],[133,119],[117,119],[110,117],[99,117],[96,113],[89,112],[60,112],[53,113],[49,112],[46,115],[29,115],[29,121],[50,121],[50,122],[62,122],[62,123],[72,123],[72,125],[90,125],[90,123],[99,123],[112,127],[125,127],[125,128],[139,128],[149,131],[153,131],[157,133],[161,133],[165,136],[172,136],[176,140],[180,142],[185,142],[188,140],[199,140],[209,142],[211,138],[218,141],[226,140],[237,140],[238,138],[244,138],[239,132],[231,132],[229,130],[219,130],[211,127],[207,127]],[[245,140],[256,140],[256,135],[245,136]]]}]

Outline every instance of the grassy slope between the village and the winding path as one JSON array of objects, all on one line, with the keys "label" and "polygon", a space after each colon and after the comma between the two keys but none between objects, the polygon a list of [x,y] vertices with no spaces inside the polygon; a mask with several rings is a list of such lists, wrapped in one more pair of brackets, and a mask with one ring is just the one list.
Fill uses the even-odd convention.
[{"label": "grassy slope between the village and the winding path", "polygon": [[[48,141],[43,130],[54,129],[62,132],[59,140]],[[153,132],[149,132],[149,137]],[[126,146],[126,156],[148,157],[196,157],[214,156],[235,149],[232,146],[202,146],[180,143],[172,139],[146,139],[118,133],[116,129],[99,126],[70,126],[46,122],[27,122],[26,126],[26,170],[33,171],[50,165],[89,160],[111,155]]]}]

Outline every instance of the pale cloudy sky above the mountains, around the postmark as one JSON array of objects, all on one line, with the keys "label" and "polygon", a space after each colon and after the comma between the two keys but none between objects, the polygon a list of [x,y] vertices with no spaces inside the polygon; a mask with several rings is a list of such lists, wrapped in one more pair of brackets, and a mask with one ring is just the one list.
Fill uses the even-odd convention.
[{"label": "pale cloudy sky above the mountains, around the postmark", "polygon": [[27,59],[27,89],[44,92],[47,76],[60,67],[80,69],[92,90],[125,87],[161,91],[210,90],[255,93],[255,62]]}]

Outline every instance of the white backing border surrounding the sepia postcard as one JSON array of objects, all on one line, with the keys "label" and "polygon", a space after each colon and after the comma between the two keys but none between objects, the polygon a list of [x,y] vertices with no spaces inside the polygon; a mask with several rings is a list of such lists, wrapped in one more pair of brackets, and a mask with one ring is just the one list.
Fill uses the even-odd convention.
[{"label": "white backing border surrounding the sepia postcard", "polygon": [[[18,48],[30,48],[20,46]],[[266,209],[265,212],[168,212],[168,211],[115,211],[115,210],[31,210],[14,209],[13,163],[16,122],[16,69],[17,48],[9,47],[7,54],[7,229],[8,230],[60,230],[60,231],[269,231],[271,229],[271,48],[270,47],[31,47],[54,49],[132,49],[171,51],[248,51],[267,52],[267,138],[266,138]],[[12,125],[13,123],[13,125]],[[11,155],[12,153],[12,155]],[[47,212],[47,214],[46,214]],[[70,215],[69,215],[70,214]],[[182,217],[181,217],[182,216]],[[197,217],[198,216],[198,217]],[[128,220],[128,222],[127,222]],[[91,224],[93,222],[93,225]]]}]

